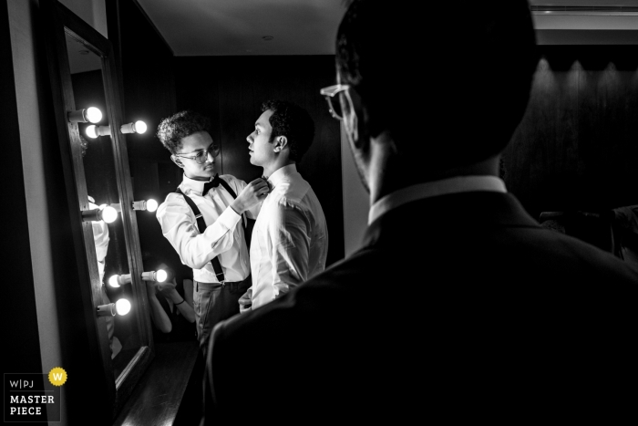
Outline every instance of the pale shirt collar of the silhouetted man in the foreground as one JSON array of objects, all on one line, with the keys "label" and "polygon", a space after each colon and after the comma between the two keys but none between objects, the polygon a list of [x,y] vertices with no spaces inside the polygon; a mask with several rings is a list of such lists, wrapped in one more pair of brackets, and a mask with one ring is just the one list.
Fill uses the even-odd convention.
[{"label": "pale shirt collar of the silhouetted man in the foreground", "polygon": [[507,192],[507,189],[505,182],[496,176],[456,176],[441,181],[418,183],[377,200],[370,207],[367,223],[375,222],[378,217],[405,203],[437,195],[474,191]]}]

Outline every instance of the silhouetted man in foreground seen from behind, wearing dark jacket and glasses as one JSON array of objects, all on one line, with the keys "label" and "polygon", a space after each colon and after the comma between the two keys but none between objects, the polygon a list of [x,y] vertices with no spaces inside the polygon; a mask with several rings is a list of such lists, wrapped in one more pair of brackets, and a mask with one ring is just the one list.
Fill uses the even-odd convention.
[{"label": "silhouetted man in foreground seen from behind, wearing dark jacket and glasses", "polygon": [[498,177],[538,60],[528,4],[420,9],[348,7],[338,85],[322,93],[370,193],[363,247],[213,330],[206,423],[511,424],[633,407],[638,274],[542,228]]}]

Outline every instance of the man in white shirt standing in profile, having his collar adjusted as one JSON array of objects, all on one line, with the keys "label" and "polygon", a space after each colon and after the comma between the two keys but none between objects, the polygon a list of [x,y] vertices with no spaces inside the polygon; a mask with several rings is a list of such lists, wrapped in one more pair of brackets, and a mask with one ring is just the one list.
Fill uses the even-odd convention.
[{"label": "man in white shirt standing in profile, having his collar adjusted", "polygon": [[252,231],[252,288],[240,301],[242,313],[251,302],[252,309],[261,307],[322,272],[328,253],[321,203],[296,169],[313,142],[313,119],[283,100],[264,102],[262,111],[246,140],[271,192]]}]

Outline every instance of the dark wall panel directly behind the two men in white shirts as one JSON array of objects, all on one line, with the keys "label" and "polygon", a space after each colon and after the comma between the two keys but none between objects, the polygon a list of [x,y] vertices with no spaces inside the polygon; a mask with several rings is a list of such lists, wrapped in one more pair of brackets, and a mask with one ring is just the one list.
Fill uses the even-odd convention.
[{"label": "dark wall panel directly behind the two men in white shirts", "polygon": [[334,84],[334,57],[176,57],[178,110],[211,118],[213,140],[221,144],[220,170],[246,182],[260,177],[246,137],[267,99],[292,101],[315,124],[311,149],[297,165],[322,203],[330,246],[328,264],[344,257],[344,217],[339,123],[330,117],[319,89]]}]

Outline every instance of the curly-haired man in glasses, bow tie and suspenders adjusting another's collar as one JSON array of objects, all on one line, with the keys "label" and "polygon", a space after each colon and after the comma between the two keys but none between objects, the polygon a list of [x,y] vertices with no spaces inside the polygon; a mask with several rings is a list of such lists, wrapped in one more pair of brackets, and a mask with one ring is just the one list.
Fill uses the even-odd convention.
[{"label": "curly-haired man in glasses, bow tie and suspenders adjusting another's collar", "polygon": [[[251,286],[242,214],[255,218],[269,191],[262,179],[247,185],[230,174],[216,173],[220,148],[209,129],[208,119],[181,111],[162,120],[157,133],[170,151],[170,159],[184,171],[180,193],[166,197],[157,218],[181,262],[193,269],[197,333],[204,349],[212,327],[239,313],[237,301]],[[200,211],[206,226],[203,233],[190,200],[184,197]],[[221,273],[215,270],[215,262],[219,262],[216,267],[221,267]]]}]

